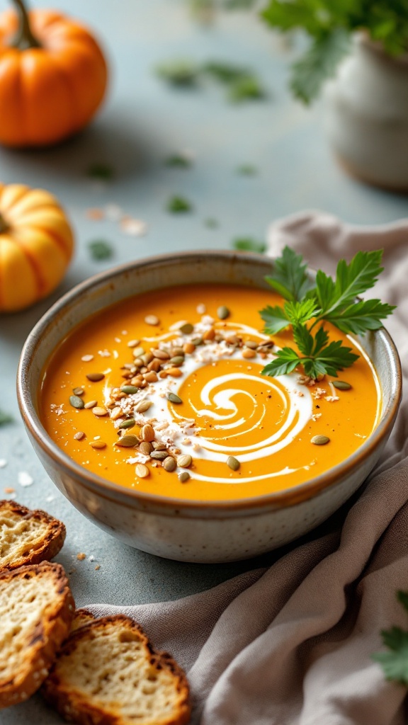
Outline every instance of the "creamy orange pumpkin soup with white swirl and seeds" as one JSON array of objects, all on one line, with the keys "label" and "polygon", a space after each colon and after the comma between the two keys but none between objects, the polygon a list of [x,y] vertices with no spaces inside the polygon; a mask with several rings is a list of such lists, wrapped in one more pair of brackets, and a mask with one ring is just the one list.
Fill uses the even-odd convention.
[{"label": "creamy orange pumpkin soup with white swirl and seeds", "polygon": [[280,302],[267,290],[187,285],[94,315],[46,366],[46,430],[102,478],[185,500],[254,497],[319,476],[372,433],[378,378],[327,323],[359,355],[341,389],[330,376],[261,376],[277,347],[293,344],[262,332],[258,310]]}]

